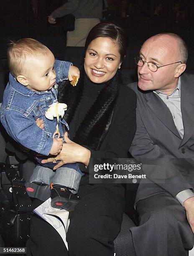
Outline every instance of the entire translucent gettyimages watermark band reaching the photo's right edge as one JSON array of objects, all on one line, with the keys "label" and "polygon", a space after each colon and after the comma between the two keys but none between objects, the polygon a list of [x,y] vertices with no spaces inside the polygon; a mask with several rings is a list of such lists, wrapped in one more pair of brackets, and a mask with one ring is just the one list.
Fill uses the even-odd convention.
[{"label": "entire translucent gettyimages watermark band reaching the photo's right edge", "polygon": [[194,177],[194,159],[142,159],[142,163],[130,158],[91,159],[89,182],[139,183],[141,181],[144,184],[174,185],[179,183],[181,173],[191,179]]}]

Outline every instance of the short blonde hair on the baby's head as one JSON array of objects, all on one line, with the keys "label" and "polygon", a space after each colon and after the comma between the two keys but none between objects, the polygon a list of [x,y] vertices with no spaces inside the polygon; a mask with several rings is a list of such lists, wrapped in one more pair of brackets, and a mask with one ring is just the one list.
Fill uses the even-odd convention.
[{"label": "short blonde hair on the baby's head", "polygon": [[32,38],[23,38],[18,41],[10,41],[8,48],[8,64],[10,72],[16,78],[18,75],[25,75],[29,67],[25,62],[28,57],[46,55],[50,50],[40,42]]}]

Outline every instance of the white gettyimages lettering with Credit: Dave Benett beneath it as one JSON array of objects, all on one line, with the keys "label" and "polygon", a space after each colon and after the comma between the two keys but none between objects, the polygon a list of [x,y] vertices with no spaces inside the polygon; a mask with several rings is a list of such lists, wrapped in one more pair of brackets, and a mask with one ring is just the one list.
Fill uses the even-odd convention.
[{"label": "white gettyimages lettering with Credit: Dave Benett beneath it", "polygon": [[139,183],[145,179],[141,163],[135,159],[91,159],[89,164],[90,183]]}]

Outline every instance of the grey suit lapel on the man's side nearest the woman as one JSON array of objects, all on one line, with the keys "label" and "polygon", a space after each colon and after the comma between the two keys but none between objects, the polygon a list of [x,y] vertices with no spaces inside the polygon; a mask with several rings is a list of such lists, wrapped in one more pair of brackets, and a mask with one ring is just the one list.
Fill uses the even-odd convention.
[{"label": "grey suit lapel on the man's side nearest the woman", "polygon": [[147,105],[153,113],[157,116],[158,119],[177,137],[181,138],[179,132],[176,129],[174,124],[172,114],[170,110],[166,107],[166,104],[158,97],[154,92],[149,92],[144,94],[145,99],[147,100]]}]

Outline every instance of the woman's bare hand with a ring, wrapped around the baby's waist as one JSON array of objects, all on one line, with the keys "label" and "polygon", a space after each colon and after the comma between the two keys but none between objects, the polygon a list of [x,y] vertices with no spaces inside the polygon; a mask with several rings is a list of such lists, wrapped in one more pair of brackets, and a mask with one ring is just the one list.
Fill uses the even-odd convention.
[{"label": "woman's bare hand with a ring, wrapped around the baby's waist", "polygon": [[[84,165],[89,164],[89,159],[91,152],[89,149],[84,148],[83,146],[74,143],[68,138],[68,133],[64,133],[64,140],[66,143],[63,143],[63,147],[59,155],[55,157],[56,160],[61,160],[56,166],[54,166],[54,170],[61,167],[64,164],[73,164],[73,163],[83,163]],[[42,164],[52,162],[53,157],[48,159],[44,159],[41,161]]]}]

